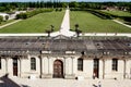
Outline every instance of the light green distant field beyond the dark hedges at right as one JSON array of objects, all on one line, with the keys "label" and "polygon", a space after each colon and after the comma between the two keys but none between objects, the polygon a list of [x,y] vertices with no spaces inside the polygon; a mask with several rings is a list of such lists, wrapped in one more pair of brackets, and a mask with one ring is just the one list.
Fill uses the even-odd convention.
[{"label": "light green distant field beyond the dark hedges at right", "polygon": [[118,15],[118,16],[131,16],[131,13],[123,12],[123,11],[107,11],[107,10],[102,10],[102,11],[106,12],[106,13],[114,14],[114,15]]}]

